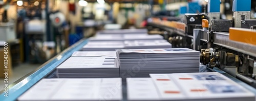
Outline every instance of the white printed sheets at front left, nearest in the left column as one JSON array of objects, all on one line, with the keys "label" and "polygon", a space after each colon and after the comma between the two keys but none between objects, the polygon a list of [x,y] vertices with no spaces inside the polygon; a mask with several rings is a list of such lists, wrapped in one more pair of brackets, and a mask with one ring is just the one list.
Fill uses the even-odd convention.
[{"label": "white printed sheets at front left, nearest in the left column", "polygon": [[42,79],[18,100],[122,100],[121,78]]}]

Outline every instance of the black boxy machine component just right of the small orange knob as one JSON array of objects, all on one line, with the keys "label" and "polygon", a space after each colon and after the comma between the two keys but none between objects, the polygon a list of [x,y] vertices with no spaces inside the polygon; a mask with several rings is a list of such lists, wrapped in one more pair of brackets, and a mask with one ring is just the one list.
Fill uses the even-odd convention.
[{"label": "black boxy machine component just right of the small orange knob", "polygon": [[214,19],[210,21],[211,26],[210,29],[211,31],[223,31],[223,32],[228,32],[229,27],[232,27],[232,20],[227,20],[227,19]]}]

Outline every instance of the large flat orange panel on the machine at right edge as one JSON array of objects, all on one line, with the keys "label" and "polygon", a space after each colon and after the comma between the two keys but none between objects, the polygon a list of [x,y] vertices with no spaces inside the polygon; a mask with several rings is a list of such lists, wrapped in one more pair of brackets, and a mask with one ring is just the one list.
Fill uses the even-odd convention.
[{"label": "large flat orange panel on the machine at right edge", "polygon": [[229,28],[229,40],[256,45],[256,30]]}]

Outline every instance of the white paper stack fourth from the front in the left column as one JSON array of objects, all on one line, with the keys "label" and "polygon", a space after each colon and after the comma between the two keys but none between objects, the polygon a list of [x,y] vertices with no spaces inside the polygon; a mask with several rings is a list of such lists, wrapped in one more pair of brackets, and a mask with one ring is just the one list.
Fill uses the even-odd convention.
[{"label": "white paper stack fourth from the front in the left column", "polygon": [[82,47],[83,51],[115,51],[124,49],[123,41],[92,41]]}]

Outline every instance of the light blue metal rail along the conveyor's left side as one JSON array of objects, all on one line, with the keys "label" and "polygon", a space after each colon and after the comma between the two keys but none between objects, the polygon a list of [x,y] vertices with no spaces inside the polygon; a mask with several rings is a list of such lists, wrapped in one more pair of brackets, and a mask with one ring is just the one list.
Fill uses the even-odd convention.
[{"label": "light blue metal rail along the conveyor's left side", "polygon": [[74,51],[80,50],[84,45],[88,43],[88,40],[82,39],[76,44],[72,45],[68,49],[64,50],[60,54],[56,55],[46,63],[40,65],[36,70],[20,78],[13,84],[8,86],[8,97],[4,96],[4,90],[2,90],[1,100],[16,100],[20,95],[27,91],[30,87],[36,84],[39,80],[49,75],[55,68],[63,61],[67,60]]}]

